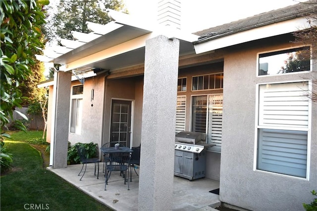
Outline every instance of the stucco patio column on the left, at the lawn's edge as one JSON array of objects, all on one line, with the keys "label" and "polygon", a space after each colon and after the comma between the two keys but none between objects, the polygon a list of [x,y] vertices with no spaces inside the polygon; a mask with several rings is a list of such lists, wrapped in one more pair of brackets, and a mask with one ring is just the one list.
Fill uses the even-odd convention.
[{"label": "stucco patio column on the left, at the lawn's edge", "polygon": [[67,167],[71,73],[59,71],[54,75],[57,76],[57,79],[54,79],[57,81],[54,87],[56,99],[53,108],[53,169],[60,169]]}]

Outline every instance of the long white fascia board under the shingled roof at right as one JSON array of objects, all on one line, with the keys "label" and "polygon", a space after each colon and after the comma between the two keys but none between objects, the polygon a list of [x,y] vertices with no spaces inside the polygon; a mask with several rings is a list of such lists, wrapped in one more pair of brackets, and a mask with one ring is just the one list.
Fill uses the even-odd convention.
[{"label": "long white fascia board under the shingled roof at right", "polygon": [[258,39],[268,38],[272,36],[296,32],[307,29],[308,23],[306,18],[296,18],[292,20],[282,21],[247,31],[221,36],[219,38],[211,37],[210,41],[194,44],[197,54],[212,51],[215,49],[240,44],[243,42],[254,41]]}]

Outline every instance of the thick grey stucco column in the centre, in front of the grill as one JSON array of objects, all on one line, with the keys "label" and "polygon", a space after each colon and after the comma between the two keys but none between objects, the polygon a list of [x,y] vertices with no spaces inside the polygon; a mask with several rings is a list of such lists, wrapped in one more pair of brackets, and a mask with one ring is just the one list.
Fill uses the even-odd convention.
[{"label": "thick grey stucco column in the centre, in front of the grill", "polygon": [[146,41],[139,211],[172,209],[179,40]]}]

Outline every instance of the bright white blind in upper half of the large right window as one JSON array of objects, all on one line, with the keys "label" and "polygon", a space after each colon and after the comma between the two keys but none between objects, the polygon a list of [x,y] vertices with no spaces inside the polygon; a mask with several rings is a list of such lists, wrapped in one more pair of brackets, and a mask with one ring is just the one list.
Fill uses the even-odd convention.
[{"label": "bright white blind in upper half of the large right window", "polygon": [[308,127],[308,84],[260,86],[259,126]]}]

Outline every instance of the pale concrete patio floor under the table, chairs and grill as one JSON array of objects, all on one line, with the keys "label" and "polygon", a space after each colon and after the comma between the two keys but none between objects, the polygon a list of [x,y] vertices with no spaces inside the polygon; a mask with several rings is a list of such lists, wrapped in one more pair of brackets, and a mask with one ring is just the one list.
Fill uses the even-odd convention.
[{"label": "pale concrete patio floor under the table, chairs and grill", "polygon": [[[130,190],[125,185],[120,172],[112,172],[106,185],[102,172],[103,163],[100,163],[99,179],[94,175],[94,164],[88,164],[87,170],[80,181],[78,173],[82,165],[71,165],[63,169],[48,169],[73,184],[78,189],[95,198],[99,202],[115,211],[137,211],[139,176],[132,169]],[[139,169],[136,169],[139,173]],[[81,174],[82,175],[82,174]],[[219,195],[209,191],[219,188],[219,181],[200,178],[193,181],[174,176],[173,211],[214,211],[220,205]]]}]

